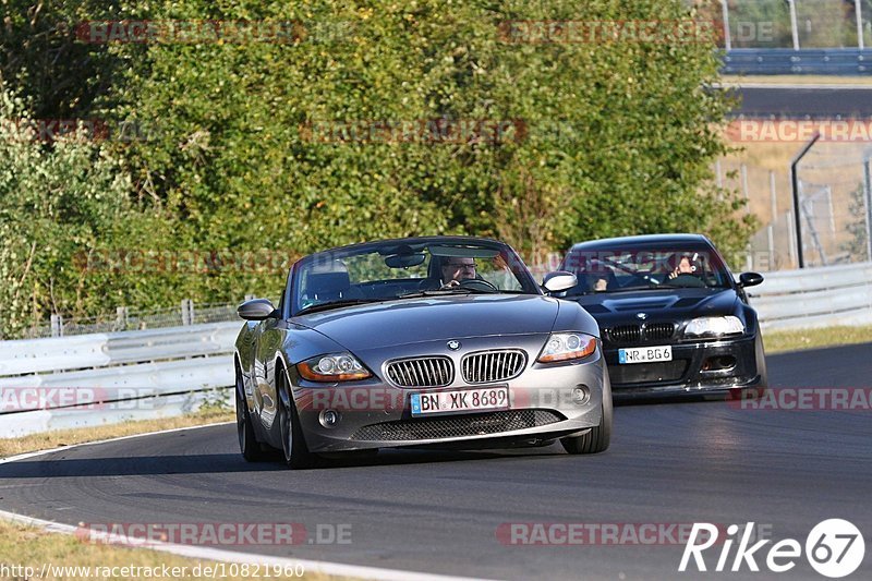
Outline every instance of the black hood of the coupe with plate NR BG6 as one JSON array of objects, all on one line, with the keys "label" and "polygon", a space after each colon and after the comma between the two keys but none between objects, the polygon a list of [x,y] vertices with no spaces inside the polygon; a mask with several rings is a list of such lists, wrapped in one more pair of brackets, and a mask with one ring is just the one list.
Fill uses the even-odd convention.
[{"label": "black hood of the coupe with plate NR BG6", "polygon": [[600,325],[635,319],[682,320],[701,316],[730,315],[738,295],[732,289],[659,289],[640,292],[595,293],[572,298]]}]

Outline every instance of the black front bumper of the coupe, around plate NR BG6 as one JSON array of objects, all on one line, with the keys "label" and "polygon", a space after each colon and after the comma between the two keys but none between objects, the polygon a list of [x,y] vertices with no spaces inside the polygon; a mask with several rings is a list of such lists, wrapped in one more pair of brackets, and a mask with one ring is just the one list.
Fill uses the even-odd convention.
[{"label": "black front bumper of the coupe, around plate NR BG6", "polygon": [[[618,350],[647,348],[646,344],[605,346],[605,359],[616,400],[653,397],[723,395],[736,388],[765,388],[766,373],[759,338],[669,344],[673,360],[657,363],[621,364]],[[653,344],[652,344],[653,346]]]}]

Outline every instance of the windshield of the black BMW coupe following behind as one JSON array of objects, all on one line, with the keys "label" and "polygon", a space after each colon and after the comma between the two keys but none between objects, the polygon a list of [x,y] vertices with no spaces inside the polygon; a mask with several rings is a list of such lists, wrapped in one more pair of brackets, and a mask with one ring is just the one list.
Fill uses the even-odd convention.
[{"label": "windshield of the black BMW coupe following behind", "polygon": [[725,289],[731,280],[720,256],[707,247],[573,250],[561,269],[579,279],[568,296],[661,288]]}]

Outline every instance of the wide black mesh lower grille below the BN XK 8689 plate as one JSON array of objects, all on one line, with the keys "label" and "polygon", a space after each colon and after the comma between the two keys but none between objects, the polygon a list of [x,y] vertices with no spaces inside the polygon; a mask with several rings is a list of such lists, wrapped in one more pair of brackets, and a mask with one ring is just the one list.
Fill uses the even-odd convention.
[{"label": "wide black mesh lower grille below the BN XK 8689 plate", "polygon": [[351,439],[408,441],[484,436],[554,424],[562,420],[566,417],[548,410],[510,410],[449,417],[422,417],[364,426],[354,432]]}]

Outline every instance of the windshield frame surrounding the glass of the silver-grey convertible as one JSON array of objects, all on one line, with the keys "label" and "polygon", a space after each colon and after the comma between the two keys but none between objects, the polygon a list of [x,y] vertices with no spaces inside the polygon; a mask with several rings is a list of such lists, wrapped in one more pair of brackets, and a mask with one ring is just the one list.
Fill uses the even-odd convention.
[{"label": "windshield frame surrounding the glass of the silver-grey convertible", "polygon": [[[524,262],[518,255],[514,250],[506,244],[505,242],[500,242],[498,240],[487,239],[487,238],[474,238],[474,237],[422,237],[422,238],[407,238],[407,239],[390,239],[390,240],[379,240],[373,242],[364,242],[360,244],[351,244],[348,246],[339,246],[335,249],[325,250],[322,252],[316,252],[310,254],[291,266],[289,276],[288,276],[288,283],[284,289],[284,312],[282,316],[284,318],[291,318],[298,316],[301,311],[305,307],[300,304],[300,295],[298,289],[301,286],[301,277],[302,273],[306,270],[308,267],[313,265],[313,263],[322,263],[327,264],[328,262],[336,261],[336,259],[344,259],[351,256],[359,256],[372,253],[378,253],[384,256],[388,256],[392,254],[391,250],[398,250],[400,247],[410,247],[414,252],[426,252],[427,258],[432,258],[429,254],[429,246],[467,246],[477,247],[481,251],[486,252],[496,252],[506,263],[507,269],[511,271],[514,277],[518,279],[518,282],[521,285],[521,291],[498,291],[493,294],[531,294],[531,295],[543,295],[544,292],[540,285],[535,281],[533,275],[530,273],[530,269],[526,267]],[[458,296],[465,296],[468,293],[456,293]],[[446,295],[450,295],[446,293]],[[400,296],[386,296],[384,299],[373,298],[376,299],[374,302],[386,302],[386,301],[396,301],[396,300],[403,300]],[[407,298],[411,299],[411,298]],[[324,303],[329,304],[329,303]],[[306,305],[308,306],[308,305]],[[305,316],[305,313],[303,313]]]}]

